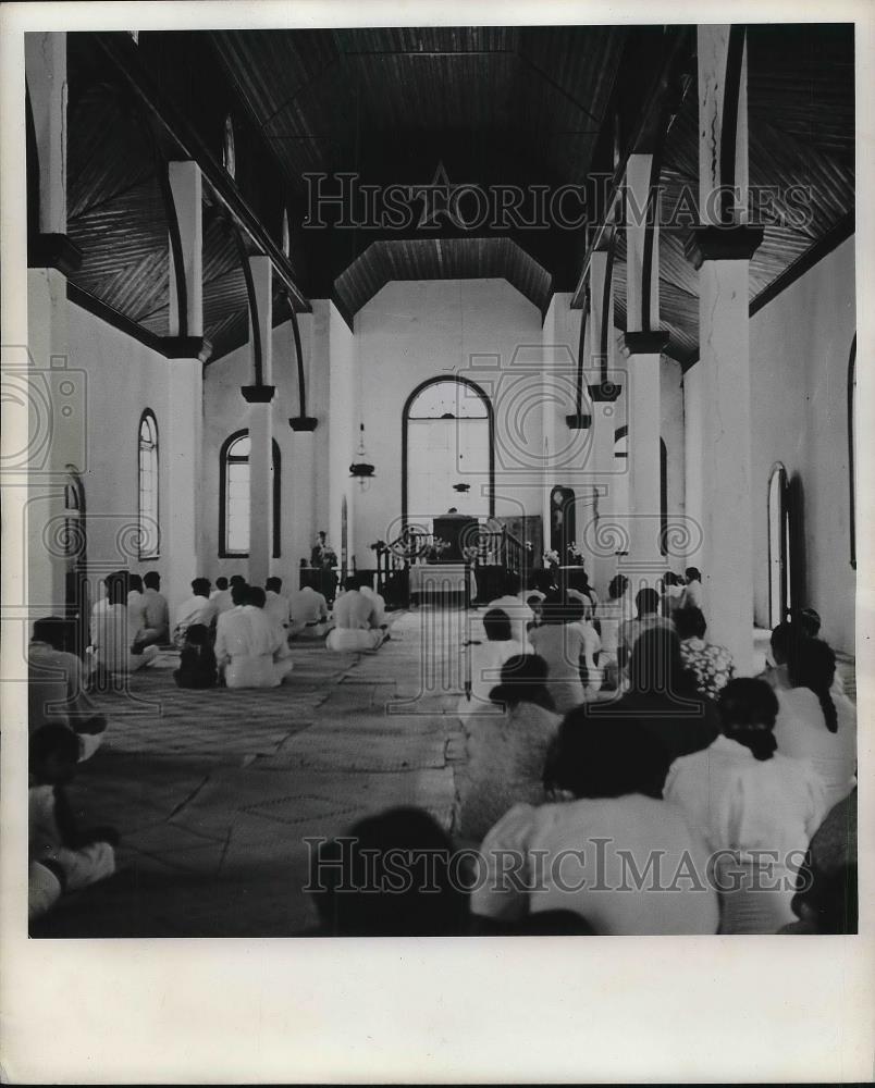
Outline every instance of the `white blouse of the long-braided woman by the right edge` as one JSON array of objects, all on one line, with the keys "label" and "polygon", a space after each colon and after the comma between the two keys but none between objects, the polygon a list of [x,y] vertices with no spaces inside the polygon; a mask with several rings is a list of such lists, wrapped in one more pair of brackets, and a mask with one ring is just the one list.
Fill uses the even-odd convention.
[{"label": "white blouse of the long-braided woman by the right edge", "polygon": [[856,710],[853,703],[833,693],[838,732],[826,728],[817,696],[809,688],[778,690],[775,740],[784,755],[811,759],[826,783],[827,809],[842,801],[856,781]]}]

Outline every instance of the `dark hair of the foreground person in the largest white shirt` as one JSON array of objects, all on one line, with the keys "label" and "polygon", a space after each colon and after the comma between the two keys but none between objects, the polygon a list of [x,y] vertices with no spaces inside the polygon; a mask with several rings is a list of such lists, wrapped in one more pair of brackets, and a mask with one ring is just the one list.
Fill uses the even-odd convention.
[{"label": "dark hair of the foreground person in the largest white shirt", "polygon": [[570,790],[576,798],[662,798],[670,762],[639,720],[590,717],[578,706],[566,714],[550,746],[544,788]]}]

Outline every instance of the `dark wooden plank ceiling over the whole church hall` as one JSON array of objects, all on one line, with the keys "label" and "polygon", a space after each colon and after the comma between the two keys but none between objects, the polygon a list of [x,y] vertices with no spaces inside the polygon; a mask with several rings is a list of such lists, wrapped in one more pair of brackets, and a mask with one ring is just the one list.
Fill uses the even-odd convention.
[{"label": "dark wooden plank ceiling over the whole church hall", "polygon": [[[447,27],[140,34],[144,64],[221,161],[234,118],[237,185],[280,243],[308,297],[331,295],[347,320],[390,279],[504,276],[542,311],[577,282],[586,232],[303,228],[308,173],[356,172],[366,184],[582,183],[609,168],[617,108],[640,110],[660,59],[660,27]],[[146,333],[167,335],[168,226],[157,145],[94,35],[69,41],[69,233],[84,255],[75,285]],[[749,28],[753,184],[811,193],[798,224],[768,226],[751,262],[763,297],[854,207],[853,28]],[[160,150],[160,140],[158,141]],[[693,86],[669,132],[663,219],[695,188]],[[206,191],[205,334],[213,359],[245,343],[238,252]],[[780,199],[786,198],[781,197]],[[792,209],[789,209],[792,210]],[[625,322],[625,249],[617,254],[617,321]],[[669,354],[698,357],[698,277],[682,234],[661,235],[662,320]],[[276,294],[275,320],[285,309]]]}]

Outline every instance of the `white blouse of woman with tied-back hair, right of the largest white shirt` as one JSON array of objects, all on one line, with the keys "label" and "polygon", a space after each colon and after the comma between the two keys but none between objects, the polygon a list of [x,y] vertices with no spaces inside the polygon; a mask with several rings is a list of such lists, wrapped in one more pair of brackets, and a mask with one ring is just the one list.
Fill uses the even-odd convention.
[{"label": "white blouse of woman with tied-back hair, right of the largest white shirt", "polygon": [[806,759],[780,752],[756,759],[728,737],[676,759],[663,796],[683,809],[710,850],[778,851],[781,860],[808,848],[827,812],[823,779]]}]

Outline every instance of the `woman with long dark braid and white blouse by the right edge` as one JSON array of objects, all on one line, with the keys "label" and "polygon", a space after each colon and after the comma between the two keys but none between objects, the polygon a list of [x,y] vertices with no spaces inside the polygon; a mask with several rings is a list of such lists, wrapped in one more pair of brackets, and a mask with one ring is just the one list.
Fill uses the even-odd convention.
[{"label": "woman with long dark braid and white blouse by the right edge", "polygon": [[831,807],[856,784],[856,709],[833,691],[836,655],[819,639],[791,640],[787,673],[790,688],[776,691],[778,751],[811,759]]}]

